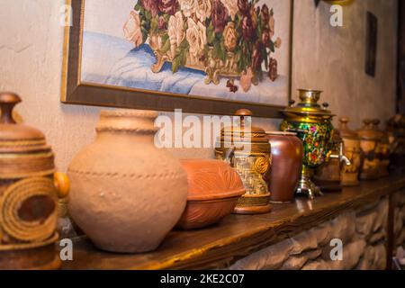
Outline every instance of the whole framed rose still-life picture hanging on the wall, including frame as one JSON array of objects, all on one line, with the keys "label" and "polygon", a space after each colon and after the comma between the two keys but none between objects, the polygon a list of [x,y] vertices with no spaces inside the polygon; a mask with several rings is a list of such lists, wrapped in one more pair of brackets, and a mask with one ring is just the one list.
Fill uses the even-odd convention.
[{"label": "whole framed rose still-life picture hanging on the wall, including frame", "polygon": [[277,118],[293,0],[67,0],[62,102]]}]

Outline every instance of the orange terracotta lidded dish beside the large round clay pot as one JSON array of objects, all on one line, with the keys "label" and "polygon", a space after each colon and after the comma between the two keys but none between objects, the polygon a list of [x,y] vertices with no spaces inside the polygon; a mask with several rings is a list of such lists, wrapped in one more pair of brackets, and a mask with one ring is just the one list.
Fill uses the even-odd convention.
[{"label": "orange terracotta lidded dish beside the large round clay pot", "polygon": [[246,191],[238,172],[214,159],[186,159],[181,163],[188,177],[188,202],[178,228],[210,226],[233,212]]}]

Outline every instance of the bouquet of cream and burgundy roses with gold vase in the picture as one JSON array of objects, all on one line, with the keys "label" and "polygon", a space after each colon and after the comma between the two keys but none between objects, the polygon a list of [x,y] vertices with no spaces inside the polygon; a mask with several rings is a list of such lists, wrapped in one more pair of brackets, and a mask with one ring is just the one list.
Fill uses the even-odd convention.
[{"label": "bouquet of cream and burgundy roses with gold vase in the picture", "polygon": [[[161,71],[166,62],[173,73],[188,67],[205,73],[205,84],[220,77],[240,77],[247,92],[264,74],[278,77],[273,57],[282,40],[275,38],[275,10],[266,3],[237,0],[137,1],[124,25],[135,47],[147,43]],[[266,70],[263,70],[266,67]]]}]

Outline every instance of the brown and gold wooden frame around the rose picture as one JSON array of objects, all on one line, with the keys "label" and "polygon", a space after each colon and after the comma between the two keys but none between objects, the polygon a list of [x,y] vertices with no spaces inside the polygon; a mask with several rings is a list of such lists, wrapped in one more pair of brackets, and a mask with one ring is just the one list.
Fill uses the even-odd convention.
[{"label": "brown and gold wooden frame around the rose picture", "polygon": [[[234,101],[214,97],[174,94],[130,88],[117,85],[103,85],[85,82],[81,79],[85,0],[67,0],[71,13],[71,25],[65,27],[63,50],[63,71],[61,102],[66,104],[94,105],[105,107],[131,108],[141,110],[174,111],[230,115],[241,108],[247,108],[256,117],[282,118],[282,111],[291,99],[292,47],[293,47],[293,2],[290,11],[290,47],[288,96],[284,105]],[[69,18],[69,17],[67,17]]]}]

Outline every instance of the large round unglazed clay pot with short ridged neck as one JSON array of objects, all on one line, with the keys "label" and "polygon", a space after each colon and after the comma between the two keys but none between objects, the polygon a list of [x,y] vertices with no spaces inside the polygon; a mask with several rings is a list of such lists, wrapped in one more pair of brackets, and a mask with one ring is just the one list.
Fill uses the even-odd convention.
[{"label": "large round unglazed clay pot with short ridged neck", "polygon": [[157,112],[103,111],[94,143],[68,168],[71,217],[96,247],[154,250],[175,227],[187,199],[180,162],[154,145]]}]

